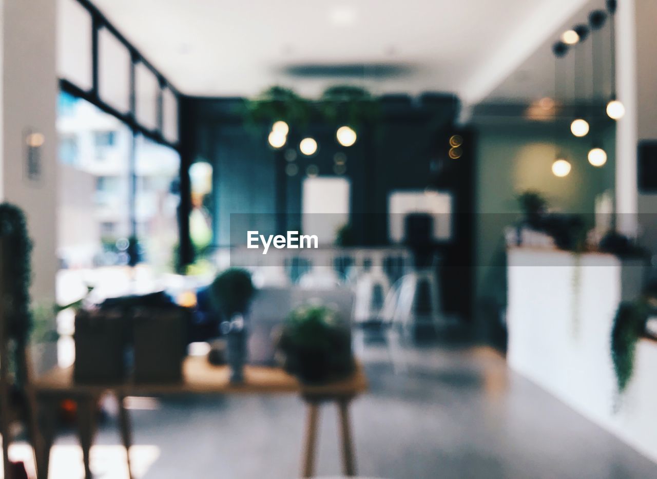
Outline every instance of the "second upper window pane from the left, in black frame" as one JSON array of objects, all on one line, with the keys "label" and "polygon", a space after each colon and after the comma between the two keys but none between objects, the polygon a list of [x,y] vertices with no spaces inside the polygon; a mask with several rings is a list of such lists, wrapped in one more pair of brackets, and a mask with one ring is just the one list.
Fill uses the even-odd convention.
[{"label": "second upper window pane from the left, in black frame", "polygon": [[106,28],[98,32],[98,76],[101,100],[122,113],[130,109],[130,53]]}]

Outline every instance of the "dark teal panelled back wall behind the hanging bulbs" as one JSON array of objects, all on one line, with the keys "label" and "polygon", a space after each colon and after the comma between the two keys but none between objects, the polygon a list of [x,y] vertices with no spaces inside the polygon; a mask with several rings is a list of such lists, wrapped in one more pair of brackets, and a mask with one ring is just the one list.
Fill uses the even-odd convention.
[{"label": "dark teal panelled back wall behind the hanging bulbs", "polygon": [[[470,136],[453,127],[458,101],[451,95],[426,94],[418,101],[405,95],[382,97],[377,120],[359,125],[357,142],[348,148],[335,139],[338,125],[316,118],[302,131],[292,126],[287,145],[272,150],[267,144],[271,125],[246,127],[240,113],[241,99],[186,98],[183,103],[181,121],[191,132],[190,144],[185,147],[189,160],[206,160],[214,166],[217,246],[230,242],[231,213],[261,214],[254,219],[259,223],[255,229],[260,231],[298,229],[301,185],[307,167],[317,166],[319,175],[335,175],[334,156],[342,152],[347,158],[344,176],[351,181],[351,226],[358,244],[388,244],[388,195],[392,191],[439,187],[453,193],[455,210],[467,213],[454,219],[455,238],[459,241],[442,246],[445,267],[450,262],[452,266],[470,265],[474,183],[469,145],[466,142],[458,160],[447,156],[451,135]],[[319,144],[312,158],[298,152],[298,143],[306,135]],[[288,148],[297,152],[292,163],[299,173],[292,177],[285,174],[290,163],[285,158]],[[456,281],[460,285],[455,285],[454,275],[442,283],[448,289],[471,290],[471,275],[462,273],[457,275],[463,277]],[[453,300],[453,293],[465,294],[447,291],[448,302]],[[464,299],[457,302],[463,304]]]}]

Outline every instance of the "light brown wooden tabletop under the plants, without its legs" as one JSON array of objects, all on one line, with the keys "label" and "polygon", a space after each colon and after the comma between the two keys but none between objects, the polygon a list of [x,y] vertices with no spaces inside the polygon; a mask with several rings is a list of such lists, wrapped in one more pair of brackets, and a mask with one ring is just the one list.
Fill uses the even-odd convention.
[{"label": "light brown wooden tabletop under the plants, without its legs", "polygon": [[79,384],[73,380],[73,367],[56,367],[34,381],[40,396],[89,395],[116,392],[123,396],[159,394],[285,394],[298,393],[307,398],[357,396],[367,390],[367,378],[359,363],[348,378],[318,386],[300,384],[280,367],[247,365],[244,382],[231,384],[229,368],[215,366],[206,357],[189,356],[183,362],[183,381],[175,383]]}]

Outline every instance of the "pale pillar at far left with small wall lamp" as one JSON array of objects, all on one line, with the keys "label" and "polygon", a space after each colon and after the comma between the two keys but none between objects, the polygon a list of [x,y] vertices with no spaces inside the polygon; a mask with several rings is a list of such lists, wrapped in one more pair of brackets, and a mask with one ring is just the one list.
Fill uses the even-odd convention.
[{"label": "pale pillar at far left with small wall lamp", "polygon": [[[0,0],[0,200],[20,206],[34,241],[32,298],[52,302],[57,271],[56,3]],[[26,132],[41,133],[40,173],[26,175]]]}]

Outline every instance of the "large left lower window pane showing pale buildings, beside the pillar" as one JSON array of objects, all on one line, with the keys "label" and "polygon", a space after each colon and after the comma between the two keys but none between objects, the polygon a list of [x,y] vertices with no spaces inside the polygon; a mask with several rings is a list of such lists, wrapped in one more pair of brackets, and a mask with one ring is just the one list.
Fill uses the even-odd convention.
[{"label": "large left lower window pane showing pale buildings, beside the pillar", "polygon": [[66,93],[58,99],[57,131],[58,277],[66,278],[58,283],[58,294],[74,297],[60,287],[79,286],[93,267],[127,263],[122,242],[130,235],[132,132],[118,118]]}]

